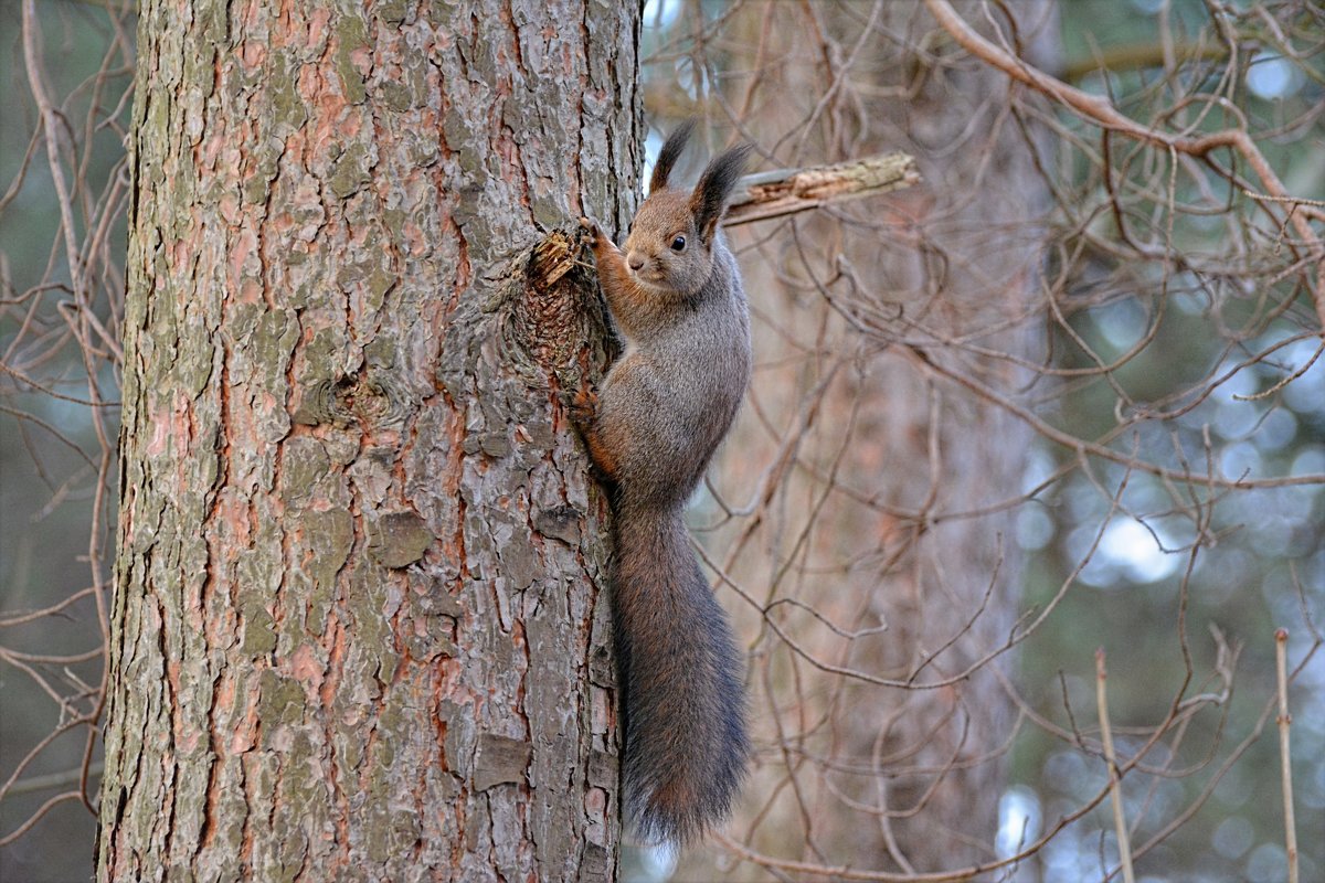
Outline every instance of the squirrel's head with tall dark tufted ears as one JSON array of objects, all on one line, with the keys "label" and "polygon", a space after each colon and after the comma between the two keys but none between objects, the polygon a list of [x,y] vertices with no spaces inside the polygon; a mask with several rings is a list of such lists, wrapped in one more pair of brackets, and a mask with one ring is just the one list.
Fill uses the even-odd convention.
[{"label": "squirrel's head with tall dark tufted ears", "polygon": [[681,294],[698,293],[713,273],[718,221],[750,154],[750,144],[733,147],[713,158],[694,191],[673,189],[668,177],[693,130],[690,120],[668,135],[624,249],[637,282]]}]

